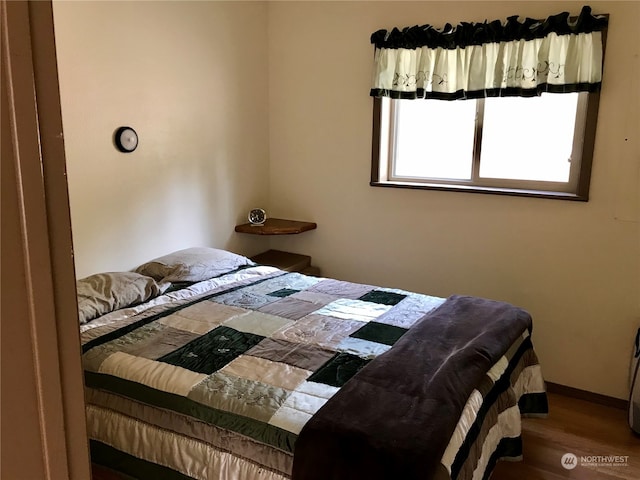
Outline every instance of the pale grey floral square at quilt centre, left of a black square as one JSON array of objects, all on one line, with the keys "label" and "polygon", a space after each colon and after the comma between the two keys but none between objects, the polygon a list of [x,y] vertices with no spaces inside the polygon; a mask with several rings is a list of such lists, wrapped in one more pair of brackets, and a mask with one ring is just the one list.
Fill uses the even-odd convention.
[{"label": "pale grey floral square at quilt centre, left of a black square", "polygon": [[307,315],[293,325],[273,334],[273,339],[293,343],[315,344],[335,350],[335,347],[362,326],[355,320],[340,320],[323,315]]}]

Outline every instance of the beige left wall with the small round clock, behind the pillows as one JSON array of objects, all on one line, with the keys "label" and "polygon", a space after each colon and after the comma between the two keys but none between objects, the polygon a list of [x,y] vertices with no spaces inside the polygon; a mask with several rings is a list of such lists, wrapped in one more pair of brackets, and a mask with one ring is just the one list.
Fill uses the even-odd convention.
[{"label": "beige left wall with the small round clock, behind the pillows", "polygon": [[[194,245],[254,254],[266,205],[264,2],[54,1],[76,273]],[[138,149],[113,133],[136,129]]]}]

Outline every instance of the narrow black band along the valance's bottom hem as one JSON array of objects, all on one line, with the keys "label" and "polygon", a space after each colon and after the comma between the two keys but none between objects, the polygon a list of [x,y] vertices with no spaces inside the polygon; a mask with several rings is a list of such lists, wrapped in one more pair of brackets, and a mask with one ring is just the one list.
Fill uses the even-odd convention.
[{"label": "narrow black band along the valance's bottom hem", "polygon": [[401,100],[432,99],[432,100],[473,100],[477,98],[491,97],[537,97],[542,93],[574,93],[600,91],[600,83],[574,83],[570,85],[550,85],[543,83],[536,88],[488,88],[485,90],[465,91],[458,90],[453,93],[427,92],[424,88],[418,88],[415,92],[399,92],[397,90],[385,90],[382,88],[372,88],[370,96],[389,97]]}]

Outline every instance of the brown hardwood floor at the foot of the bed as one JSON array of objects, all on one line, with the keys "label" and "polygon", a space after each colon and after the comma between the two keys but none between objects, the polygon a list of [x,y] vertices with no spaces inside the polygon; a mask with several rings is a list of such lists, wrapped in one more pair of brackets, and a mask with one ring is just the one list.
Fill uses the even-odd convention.
[{"label": "brown hardwood floor at the foot of the bed", "polygon": [[[640,437],[629,428],[625,410],[557,393],[549,393],[549,409],[548,418],[523,420],[524,459],[499,462],[491,480],[640,479]],[[560,463],[566,453],[577,457],[572,470]],[[581,462],[581,457],[608,455],[628,457],[626,466]],[[93,480],[123,478],[101,467],[93,469]]]}]

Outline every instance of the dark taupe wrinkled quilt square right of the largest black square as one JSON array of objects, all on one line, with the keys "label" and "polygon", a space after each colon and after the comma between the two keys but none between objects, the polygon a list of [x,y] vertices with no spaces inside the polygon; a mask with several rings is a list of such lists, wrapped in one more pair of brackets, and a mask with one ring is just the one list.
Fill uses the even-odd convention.
[{"label": "dark taupe wrinkled quilt square right of the largest black square", "polygon": [[251,350],[247,350],[246,355],[266,358],[274,362],[288,363],[303,370],[314,372],[333,357],[334,353],[333,350],[317,345],[293,343],[277,338],[265,338]]}]

